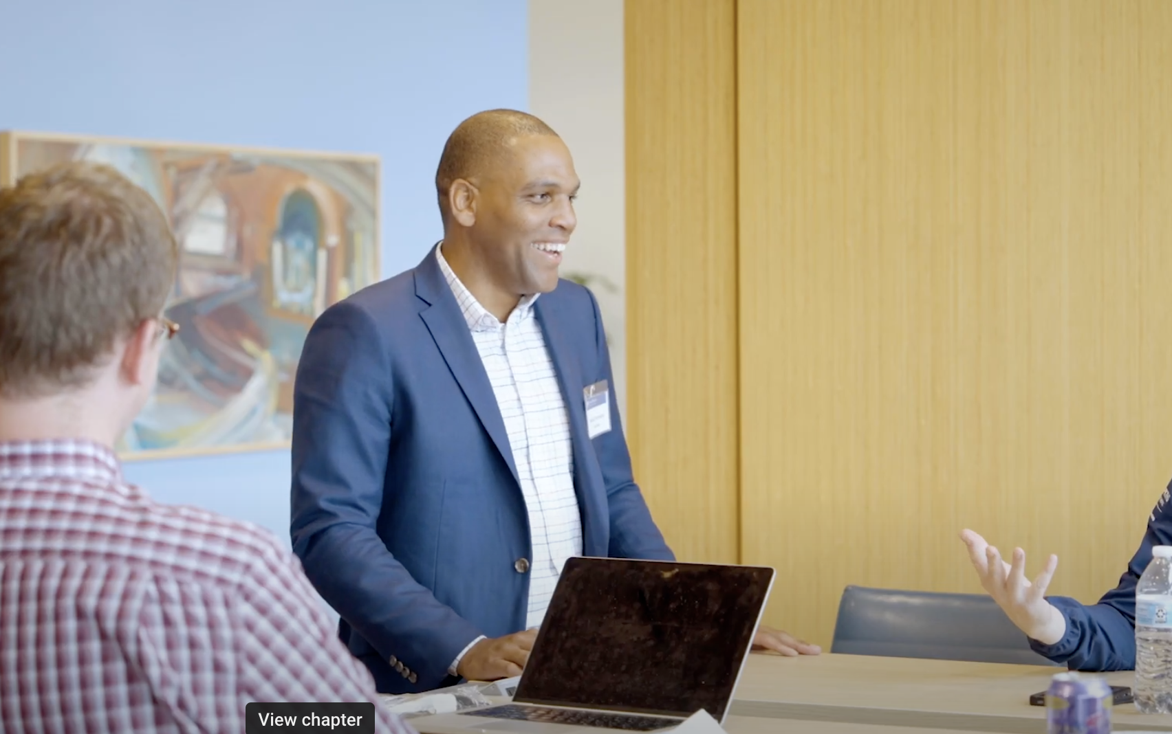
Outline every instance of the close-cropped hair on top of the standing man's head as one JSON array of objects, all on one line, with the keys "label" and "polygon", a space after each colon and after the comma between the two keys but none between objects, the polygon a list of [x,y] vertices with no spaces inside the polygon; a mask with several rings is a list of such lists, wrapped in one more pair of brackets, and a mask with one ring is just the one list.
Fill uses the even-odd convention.
[{"label": "close-cropped hair on top of the standing man's head", "polygon": [[529,135],[558,133],[539,118],[517,110],[477,112],[456,126],[448,136],[436,170],[436,194],[444,222],[448,221],[448,192],[452,181],[483,174],[507,152],[513,140]]}]

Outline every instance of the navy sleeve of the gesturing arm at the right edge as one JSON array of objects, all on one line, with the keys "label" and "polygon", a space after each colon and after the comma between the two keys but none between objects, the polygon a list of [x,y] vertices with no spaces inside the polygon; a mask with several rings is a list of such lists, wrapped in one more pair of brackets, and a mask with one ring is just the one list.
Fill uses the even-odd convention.
[{"label": "navy sleeve of the gesturing arm at the right edge", "polygon": [[1136,584],[1152,560],[1153,546],[1172,546],[1172,482],[1147,520],[1139,550],[1119,585],[1086,606],[1069,597],[1048,597],[1067,618],[1067,633],[1054,645],[1030,640],[1035,651],[1076,671],[1130,671],[1136,667]]}]

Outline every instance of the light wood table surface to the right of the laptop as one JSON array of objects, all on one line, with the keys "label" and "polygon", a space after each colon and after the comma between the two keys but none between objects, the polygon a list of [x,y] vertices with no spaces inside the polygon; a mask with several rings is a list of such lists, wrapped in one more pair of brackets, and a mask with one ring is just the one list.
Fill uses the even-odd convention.
[{"label": "light wood table surface to the right of the laptop", "polygon": [[[1045,732],[1045,709],[1030,706],[1029,697],[1045,691],[1050,678],[1061,671],[1033,665],[827,653],[800,658],[750,654],[729,713],[738,720],[881,725],[914,727],[921,733],[949,729],[1038,734]],[[1105,678],[1112,685],[1131,686],[1134,673],[1106,673]],[[1172,714],[1140,714],[1131,704],[1115,707],[1111,720],[1117,732],[1172,732]],[[759,725],[749,721],[743,726]],[[832,732],[838,734],[833,729],[825,734]],[[745,729],[744,734],[756,732]]]}]

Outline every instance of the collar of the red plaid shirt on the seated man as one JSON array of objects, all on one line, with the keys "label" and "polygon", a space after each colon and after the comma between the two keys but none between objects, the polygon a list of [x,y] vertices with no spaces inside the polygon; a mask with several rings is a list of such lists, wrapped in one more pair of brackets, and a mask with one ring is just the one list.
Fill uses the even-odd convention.
[{"label": "collar of the red plaid shirt on the seated man", "polygon": [[122,465],[108,447],[86,439],[0,441],[0,480],[5,479],[121,485]]}]

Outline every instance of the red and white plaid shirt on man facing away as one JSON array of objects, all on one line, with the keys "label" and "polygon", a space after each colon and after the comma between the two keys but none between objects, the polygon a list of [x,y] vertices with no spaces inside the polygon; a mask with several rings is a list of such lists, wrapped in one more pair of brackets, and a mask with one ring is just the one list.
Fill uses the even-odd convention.
[{"label": "red and white plaid shirt on man facing away", "polygon": [[237,733],[250,701],[413,732],[271,534],[152,502],[96,444],[0,443],[0,730]]}]

